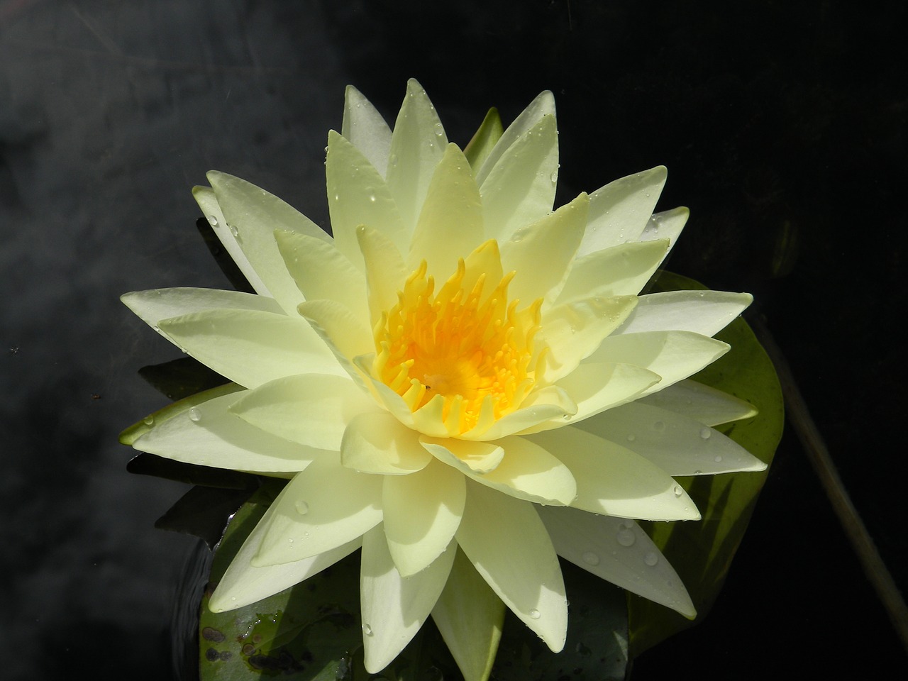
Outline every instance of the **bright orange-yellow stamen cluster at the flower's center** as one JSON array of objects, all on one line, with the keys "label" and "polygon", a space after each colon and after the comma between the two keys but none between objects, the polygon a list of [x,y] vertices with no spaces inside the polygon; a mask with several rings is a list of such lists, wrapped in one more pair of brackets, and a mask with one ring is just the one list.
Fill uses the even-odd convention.
[{"label": "bright orange-yellow stamen cluster at the flower's center", "polygon": [[[508,303],[514,272],[496,285],[461,259],[438,291],[419,265],[375,329],[375,376],[416,411],[441,396],[449,432],[464,433],[517,409],[532,389],[541,299]],[[465,280],[474,281],[469,288]]]}]

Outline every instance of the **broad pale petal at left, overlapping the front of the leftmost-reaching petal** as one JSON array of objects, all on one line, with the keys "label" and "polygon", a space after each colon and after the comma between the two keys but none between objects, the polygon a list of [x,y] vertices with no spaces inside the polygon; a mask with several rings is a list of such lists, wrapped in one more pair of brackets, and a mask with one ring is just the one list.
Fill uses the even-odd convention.
[{"label": "broad pale petal at left, overlapping the front of the leftmost-reaching petal", "polygon": [[287,374],[343,371],[328,346],[299,317],[204,310],[163,320],[159,326],[196,360],[246,388]]}]

